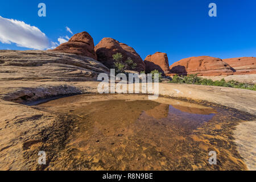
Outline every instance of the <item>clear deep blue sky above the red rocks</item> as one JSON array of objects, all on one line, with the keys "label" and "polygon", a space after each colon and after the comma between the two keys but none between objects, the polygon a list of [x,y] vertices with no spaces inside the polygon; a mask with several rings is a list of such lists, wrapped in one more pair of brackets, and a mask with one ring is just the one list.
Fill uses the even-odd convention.
[{"label": "clear deep blue sky above the red rocks", "polygon": [[[38,16],[40,2],[46,3],[46,17]],[[212,2],[217,17],[208,15]],[[39,28],[49,42],[71,37],[69,27],[74,34],[89,32],[95,45],[104,37],[126,43],[142,59],[166,52],[170,64],[191,56],[256,56],[254,0],[10,0],[0,2],[0,16]],[[0,43],[0,49],[31,48]]]}]

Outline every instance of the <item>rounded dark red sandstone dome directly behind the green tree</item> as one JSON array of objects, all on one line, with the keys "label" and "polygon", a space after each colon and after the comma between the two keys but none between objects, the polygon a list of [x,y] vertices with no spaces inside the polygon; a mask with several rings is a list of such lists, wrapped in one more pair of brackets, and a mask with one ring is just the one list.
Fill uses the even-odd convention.
[{"label": "rounded dark red sandstone dome directly behind the green tree", "polygon": [[106,65],[108,68],[114,68],[114,60],[112,56],[115,53],[122,53],[124,59],[130,57],[134,63],[137,64],[137,67],[134,69],[134,71],[141,72],[145,70],[145,64],[143,63],[141,56],[139,56],[132,47],[127,46],[124,43],[120,43],[115,39],[102,39],[94,50],[97,54],[98,61]]}]

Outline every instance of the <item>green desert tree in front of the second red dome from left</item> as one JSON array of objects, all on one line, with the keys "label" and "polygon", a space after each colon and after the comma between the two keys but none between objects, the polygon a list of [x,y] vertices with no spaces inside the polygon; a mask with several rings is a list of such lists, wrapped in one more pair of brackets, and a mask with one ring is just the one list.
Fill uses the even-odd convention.
[{"label": "green desert tree in front of the second red dome from left", "polygon": [[128,57],[127,60],[123,59],[121,53],[116,53],[112,57],[115,60],[114,66],[117,74],[123,73],[126,69],[134,69],[137,66],[130,57]]}]

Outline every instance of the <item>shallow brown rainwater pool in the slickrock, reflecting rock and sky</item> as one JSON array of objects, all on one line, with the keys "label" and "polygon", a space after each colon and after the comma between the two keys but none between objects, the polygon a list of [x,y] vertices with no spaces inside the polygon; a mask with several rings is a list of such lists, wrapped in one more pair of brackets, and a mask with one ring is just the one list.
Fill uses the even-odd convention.
[{"label": "shallow brown rainwater pool in the slickrock, reflecting rock and sky", "polygon": [[[60,113],[69,110],[76,121],[65,149],[48,168],[246,169],[232,142],[232,129],[241,121],[232,110],[166,103],[127,97],[93,102],[75,96],[40,105]],[[208,163],[212,150],[218,154],[219,165]]]}]

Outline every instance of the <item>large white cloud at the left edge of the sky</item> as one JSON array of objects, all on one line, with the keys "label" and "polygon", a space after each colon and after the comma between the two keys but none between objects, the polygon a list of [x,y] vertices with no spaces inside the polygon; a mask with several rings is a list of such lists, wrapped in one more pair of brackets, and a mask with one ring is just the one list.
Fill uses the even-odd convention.
[{"label": "large white cloud at the left edge of the sky", "polygon": [[0,42],[31,49],[47,49],[49,40],[39,28],[0,16]]}]

